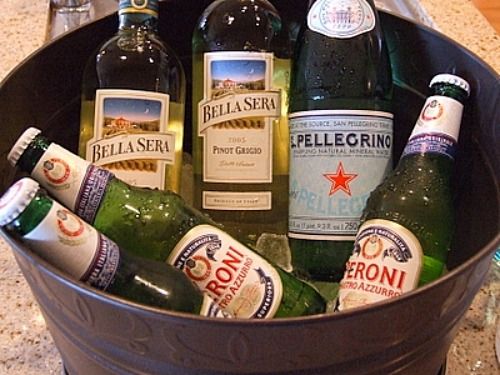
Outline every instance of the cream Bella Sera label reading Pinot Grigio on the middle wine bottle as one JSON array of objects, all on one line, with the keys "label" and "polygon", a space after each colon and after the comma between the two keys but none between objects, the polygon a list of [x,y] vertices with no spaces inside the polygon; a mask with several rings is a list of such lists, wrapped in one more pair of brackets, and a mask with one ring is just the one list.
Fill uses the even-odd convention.
[{"label": "cream Bella Sera label reading Pinot Grigio on the middle wine bottle", "polygon": [[[198,106],[204,182],[272,182],[273,123],[281,116],[281,93],[272,90],[273,61],[272,53],[204,55],[204,99]],[[203,207],[237,206],[238,197],[228,194],[220,199],[221,194],[207,192]],[[268,199],[258,193],[243,202],[238,209],[270,208]]]}]

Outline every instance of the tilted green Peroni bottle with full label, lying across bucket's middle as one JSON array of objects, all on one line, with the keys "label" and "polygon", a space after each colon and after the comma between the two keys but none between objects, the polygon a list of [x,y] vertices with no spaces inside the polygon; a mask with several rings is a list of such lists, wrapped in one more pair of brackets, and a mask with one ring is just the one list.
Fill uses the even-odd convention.
[{"label": "tilted green Peroni bottle with full label, lying across bucket's middle", "polygon": [[233,317],[321,313],[309,284],[275,268],[174,192],[131,186],[27,129],[8,158],[125,251],[181,269]]}]

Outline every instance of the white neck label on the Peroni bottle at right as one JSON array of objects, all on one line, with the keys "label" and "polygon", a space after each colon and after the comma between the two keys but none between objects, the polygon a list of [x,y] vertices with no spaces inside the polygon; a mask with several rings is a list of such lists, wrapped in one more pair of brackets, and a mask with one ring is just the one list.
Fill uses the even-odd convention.
[{"label": "white neck label on the Peroni bottle at right", "polygon": [[446,96],[431,96],[422,108],[403,151],[409,154],[439,153],[454,159],[463,105]]}]

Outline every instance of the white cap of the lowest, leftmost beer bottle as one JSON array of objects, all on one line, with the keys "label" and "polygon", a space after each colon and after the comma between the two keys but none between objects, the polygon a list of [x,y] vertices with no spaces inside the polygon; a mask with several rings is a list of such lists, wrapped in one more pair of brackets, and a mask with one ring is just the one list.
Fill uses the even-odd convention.
[{"label": "white cap of the lowest, leftmost beer bottle", "polygon": [[40,189],[35,180],[25,177],[12,185],[0,197],[0,226],[15,220],[28,207]]}]

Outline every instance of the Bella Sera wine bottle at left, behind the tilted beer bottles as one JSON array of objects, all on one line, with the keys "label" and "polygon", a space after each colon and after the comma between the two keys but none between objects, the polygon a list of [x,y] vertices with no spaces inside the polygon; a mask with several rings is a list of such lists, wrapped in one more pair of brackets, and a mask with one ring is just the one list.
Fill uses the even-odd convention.
[{"label": "Bella Sera wine bottle at left, behind the tilted beer bottles", "polygon": [[185,76],[158,0],[120,0],[118,32],[84,72],[79,154],[136,186],[179,191]]}]

